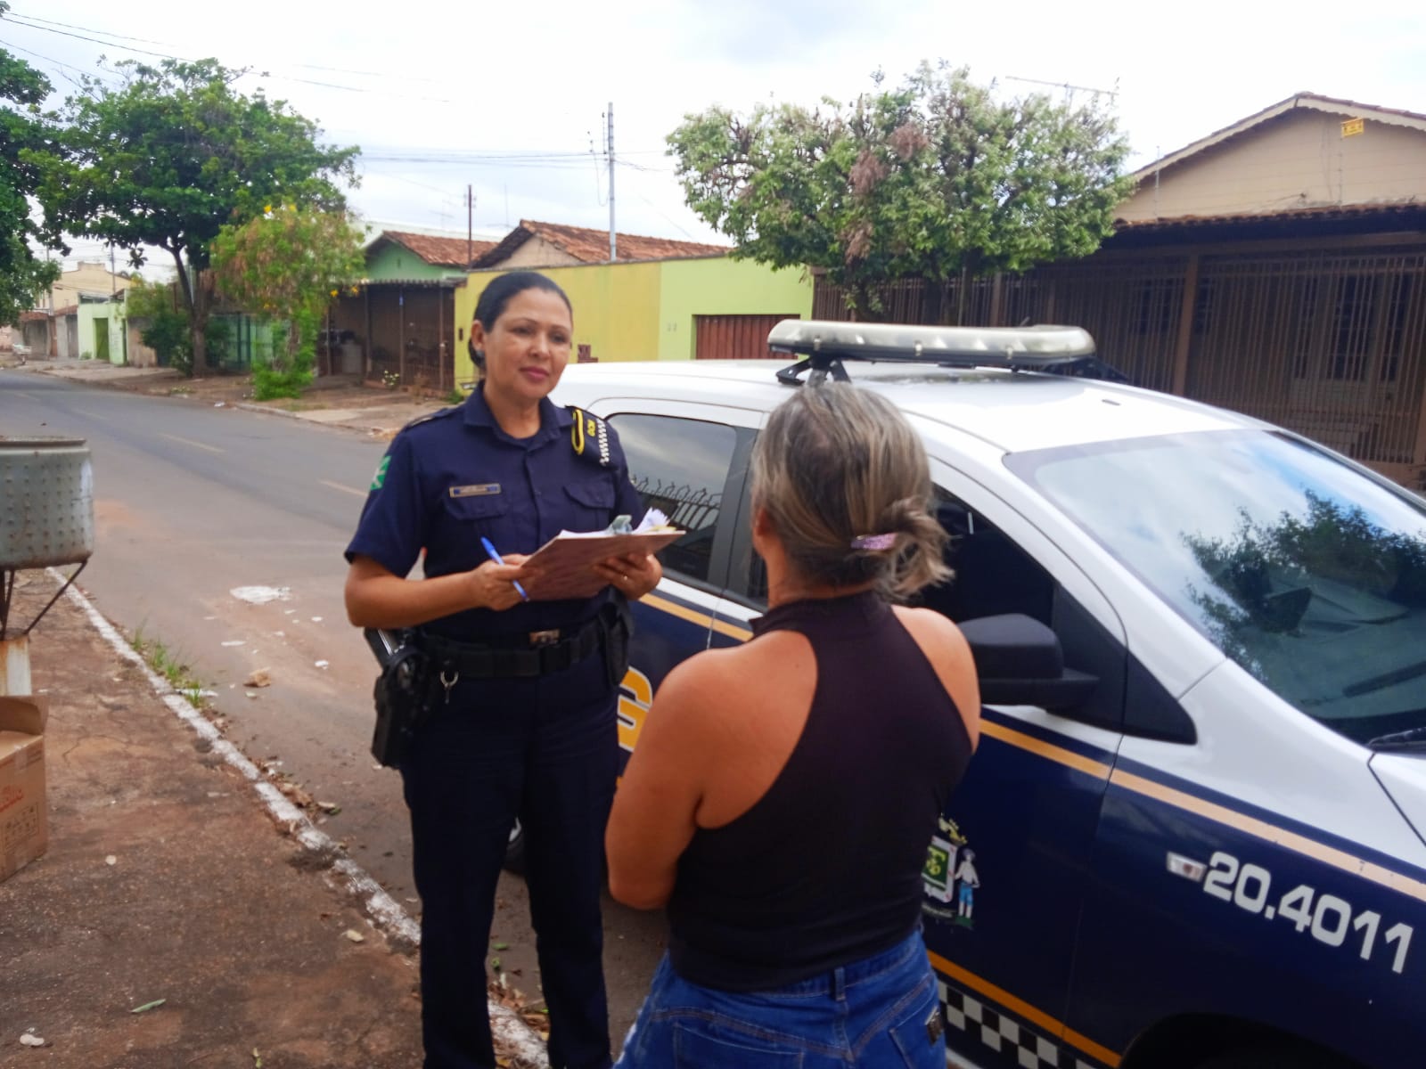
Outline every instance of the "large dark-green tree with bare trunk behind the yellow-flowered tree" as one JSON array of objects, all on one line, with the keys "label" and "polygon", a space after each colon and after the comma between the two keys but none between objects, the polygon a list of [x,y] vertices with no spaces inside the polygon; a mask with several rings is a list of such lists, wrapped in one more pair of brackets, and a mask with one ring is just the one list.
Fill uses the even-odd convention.
[{"label": "large dark-green tree with bare trunk behind the yellow-flowered tree", "polygon": [[57,115],[66,158],[41,168],[40,202],[68,234],[111,241],[138,267],[145,245],[178,268],[193,369],[207,368],[210,244],[228,222],[285,201],[338,211],[337,182],[355,184],[355,147],[317,144],[321,130],[232,84],[217,60],[117,64],[117,88],[86,77]]}]

